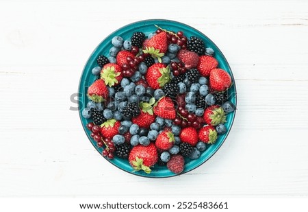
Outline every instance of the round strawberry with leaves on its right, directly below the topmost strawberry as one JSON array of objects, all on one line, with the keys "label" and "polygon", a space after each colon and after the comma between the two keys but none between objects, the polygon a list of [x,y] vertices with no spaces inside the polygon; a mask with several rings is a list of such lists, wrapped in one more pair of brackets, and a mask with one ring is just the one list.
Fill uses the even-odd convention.
[{"label": "round strawberry with leaves on its right, directly below the topmost strawberry", "polygon": [[146,72],[146,82],[152,89],[162,88],[171,80],[170,68],[163,63],[155,63]]}]

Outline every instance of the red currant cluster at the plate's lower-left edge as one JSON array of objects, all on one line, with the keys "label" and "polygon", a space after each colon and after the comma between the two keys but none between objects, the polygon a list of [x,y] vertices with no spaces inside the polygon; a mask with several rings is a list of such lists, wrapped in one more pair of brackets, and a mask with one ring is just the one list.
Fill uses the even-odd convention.
[{"label": "red currant cluster at the plate's lower-left edge", "polygon": [[101,136],[100,127],[92,122],[87,124],[87,128],[91,131],[90,136],[97,142],[97,146],[99,148],[103,148],[103,146],[105,146],[105,149],[102,152],[103,156],[107,156],[107,158],[110,159],[114,158],[114,151],[116,150],[116,147],[114,146],[112,139],[103,139]]}]

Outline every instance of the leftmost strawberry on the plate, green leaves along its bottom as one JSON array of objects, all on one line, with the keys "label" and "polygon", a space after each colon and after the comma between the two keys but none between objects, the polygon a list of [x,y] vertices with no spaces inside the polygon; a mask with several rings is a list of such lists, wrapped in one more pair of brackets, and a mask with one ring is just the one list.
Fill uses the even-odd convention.
[{"label": "leftmost strawberry on the plate, green leaves along its bottom", "polygon": [[103,102],[108,96],[108,89],[103,80],[97,80],[88,88],[88,98],[93,102]]}]

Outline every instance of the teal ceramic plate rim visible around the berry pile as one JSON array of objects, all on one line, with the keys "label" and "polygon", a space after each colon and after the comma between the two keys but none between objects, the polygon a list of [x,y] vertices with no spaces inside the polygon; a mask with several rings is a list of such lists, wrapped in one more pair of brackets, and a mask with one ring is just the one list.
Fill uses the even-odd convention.
[{"label": "teal ceramic plate rim visible around the berry pile", "polygon": [[[115,32],[110,34],[110,36],[107,36],[107,38],[105,38],[105,40],[103,40],[99,44],[99,46],[96,49],[94,49],[90,58],[88,59],[88,62],[86,62],[86,66],[84,67],[84,71],[81,74],[81,79],[79,82],[79,97],[78,97],[79,101],[78,102],[79,102],[79,116],[81,119],[81,124],[84,127],[84,130],[90,142],[92,143],[94,148],[96,148],[96,150],[99,152],[99,154],[101,154],[102,148],[98,148],[96,142],[90,137],[90,130],[86,128],[86,124],[88,123],[88,120],[84,119],[84,117],[82,117],[81,115],[81,110],[88,103],[88,97],[86,96],[87,89],[90,86],[90,84],[94,82],[94,79],[96,78],[94,75],[92,75],[91,70],[94,67],[97,67],[96,59],[98,56],[100,55],[105,55],[107,57],[109,56],[109,49],[112,47],[111,40],[114,36],[121,36],[126,40],[130,38],[133,32],[136,32],[136,31],[141,31],[141,32],[144,32],[144,34],[148,35],[151,32],[155,32],[155,30],[157,30],[155,25],[159,25],[159,27],[162,27],[164,29],[168,29],[171,31],[175,31],[175,32],[181,30],[184,32],[185,36],[187,36],[188,38],[190,38],[190,36],[198,36],[199,38],[203,39],[206,47],[211,47],[212,49],[214,49],[215,51],[214,57],[216,58],[216,60],[218,60],[219,67],[221,69],[226,70],[231,75],[233,85],[229,89],[229,93],[232,94],[231,102],[233,102],[233,104],[235,104],[236,106],[235,81],[233,78],[231,68],[229,67],[228,62],[226,58],[224,58],[220,49],[218,49],[218,47],[209,38],[207,38],[207,36],[205,36],[202,32],[199,32],[193,27],[190,27],[189,25],[185,25],[183,23],[179,23],[176,21],[161,20],[161,19],[145,20],[145,21],[138,21],[136,23],[131,23],[129,25],[126,25],[125,27],[122,27],[116,30]],[[205,163],[205,161],[211,158],[211,156],[213,156],[215,152],[217,152],[217,150],[220,148],[222,143],[224,143],[224,141],[227,139],[227,135],[229,134],[231,130],[234,117],[235,117],[235,112],[227,115],[227,123],[226,123],[227,133],[220,135],[216,143],[214,143],[213,145],[209,145],[207,150],[205,150],[205,152],[202,152],[200,158],[198,158],[197,160],[185,159],[185,169],[182,174],[190,172],[192,169],[195,169],[196,167],[202,165],[203,163]],[[133,169],[131,168],[127,160],[117,158],[117,157],[115,157],[112,160],[109,160],[106,158],[106,160],[112,163],[113,165],[115,165],[116,167],[123,169],[123,171],[126,171],[130,174],[135,174],[138,176],[145,176],[145,177],[150,177],[150,178],[166,178],[170,176],[176,176],[175,174],[170,172],[166,168],[166,166],[155,165],[155,167],[153,167],[152,169],[153,171],[151,172],[151,174],[145,174],[144,172],[132,172]]]}]

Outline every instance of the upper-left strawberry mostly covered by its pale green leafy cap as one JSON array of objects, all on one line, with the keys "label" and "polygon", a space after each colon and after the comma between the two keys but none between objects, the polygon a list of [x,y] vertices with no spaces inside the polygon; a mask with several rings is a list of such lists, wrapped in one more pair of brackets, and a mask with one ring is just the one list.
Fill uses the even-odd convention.
[{"label": "upper-left strawberry mostly covered by its pale green leafy cap", "polygon": [[110,87],[119,84],[123,79],[122,68],[116,63],[105,64],[101,69],[101,79]]}]

